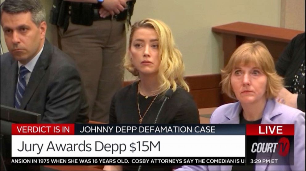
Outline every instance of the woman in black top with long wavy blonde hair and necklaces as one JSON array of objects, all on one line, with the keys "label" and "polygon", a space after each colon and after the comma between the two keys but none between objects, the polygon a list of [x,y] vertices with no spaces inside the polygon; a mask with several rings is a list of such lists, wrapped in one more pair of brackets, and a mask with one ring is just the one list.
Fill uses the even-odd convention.
[{"label": "woman in black top with long wavy blonde hair and necklaces", "polygon": [[[145,19],[132,26],[124,66],[139,79],[114,95],[110,123],[200,123],[197,106],[183,79],[182,54],[176,48],[171,30],[165,23]],[[165,102],[159,113],[168,89],[173,90],[172,97]],[[116,169],[138,168],[139,166],[119,166]],[[172,166],[141,167],[141,170],[152,169],[172,170]]]}]

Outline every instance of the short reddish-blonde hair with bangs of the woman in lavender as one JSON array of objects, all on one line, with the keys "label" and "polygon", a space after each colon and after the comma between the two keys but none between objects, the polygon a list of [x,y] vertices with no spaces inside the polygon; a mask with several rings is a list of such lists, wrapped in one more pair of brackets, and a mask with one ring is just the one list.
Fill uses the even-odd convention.
[{"label": "short reddish-blonde hair with bangs of the woman in lavender", "polygon": [[274,61],[269,50],[259,41],[244,43],[239,46],[229,59],[224,70],[221,70],[223,93],[226,93],[231,98],[237,99],[232,90],[230,78],[235,67],[248,65],[249,63],[254,63],[267,76],[266,97],[268,99],[277,97],[280,89],[283,88],[283,78],[276,73]]}]

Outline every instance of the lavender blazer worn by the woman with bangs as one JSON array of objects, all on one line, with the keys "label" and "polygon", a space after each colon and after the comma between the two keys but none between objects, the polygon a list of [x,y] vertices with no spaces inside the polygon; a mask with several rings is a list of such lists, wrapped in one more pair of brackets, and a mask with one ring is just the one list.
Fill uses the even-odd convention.
[{"label": "lavender blazer worn by the woman with bangs", "polygon": [[[218,107],[210,118],[212,124],[238,124],[242,110],[240,102]],[[299,109],[268,100],[261,124],[294,124],[294,165],[256,165],[255,170],[305,170],[305,113]],[[265,156],[270,158],[271,155]],[[262,158],[262,156],[261,156]],[[283,161],[278,161],[282,163]],[[232,170],[231,165],[184,165],[179,170]]]}]

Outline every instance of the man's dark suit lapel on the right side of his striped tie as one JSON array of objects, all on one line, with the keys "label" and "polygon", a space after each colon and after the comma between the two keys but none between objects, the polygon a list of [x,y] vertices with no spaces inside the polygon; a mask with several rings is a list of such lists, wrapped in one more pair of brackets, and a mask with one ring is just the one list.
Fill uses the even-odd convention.
[{"label": "man's dark suit lapel on the right side of his striped tie", "polygon": [[51,55],[52,55],[53,47],[48,42],[48,40],[45,40],[45,44],[43,47],[43,51],[40,54],[35,67],[33,69],[33,72],[31,73],[30,80],[27,84],[27,88],[24,92],[20,109],[25,109],[28,102],[30,101],[31,97],[33,96],[35,90],[37,89],[39,83],[41,82],[42,78],[45,75],[45,70],[48,68],[49,63],[51,61]]}]

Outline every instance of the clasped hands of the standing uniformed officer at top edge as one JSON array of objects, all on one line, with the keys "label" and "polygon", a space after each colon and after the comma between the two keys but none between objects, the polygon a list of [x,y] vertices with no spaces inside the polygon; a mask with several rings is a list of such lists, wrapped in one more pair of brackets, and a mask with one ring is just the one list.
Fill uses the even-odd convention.
[{"label": "clasped hands of the standing uniformed officer at top edge", "polygon": [[[102,7],[111,15],[119,14],[126,7],[126,0],[104,0]],[[101,13],[100,13],[101,15]]]}]

